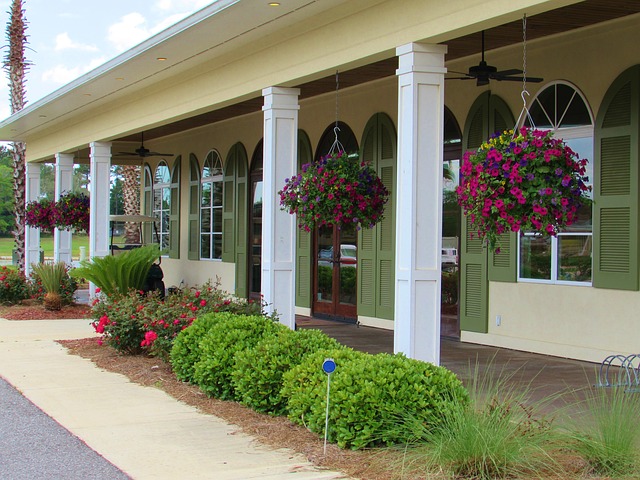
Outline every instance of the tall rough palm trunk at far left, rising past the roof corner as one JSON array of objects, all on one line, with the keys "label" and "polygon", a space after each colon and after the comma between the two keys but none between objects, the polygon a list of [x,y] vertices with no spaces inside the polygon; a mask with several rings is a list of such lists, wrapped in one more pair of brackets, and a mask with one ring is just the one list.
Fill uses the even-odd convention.
[{"label": "tall rough palm trunk at far left, rising past the roof corner", "polygon": [[[27,20],[25,17],[22,0],[13,0],[10,10],[11,17],[7,25],[7,40],[9,51],[4,58],[4,69],[9,76],[9,88],[11,99],[11,114],[24,108],[25,73],[29,69],[29,62],[25,57],[25,45],[27,44]],[[25,171],[26,171],[26,145],[23,142],[12,144],[13,156],[13,191],[15,194],[15,240],[18,266],[24,270],[25,258]]]}]

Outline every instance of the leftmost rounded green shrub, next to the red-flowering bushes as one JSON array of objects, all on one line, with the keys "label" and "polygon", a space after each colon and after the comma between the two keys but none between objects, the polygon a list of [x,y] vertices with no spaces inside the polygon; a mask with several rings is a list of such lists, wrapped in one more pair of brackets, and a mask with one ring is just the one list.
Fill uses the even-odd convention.
[{"label": "leftmost rounded green shrub, next to the red-flowering bushes", "polygon": [[229,312],[207,313],[182,330],[171,348],[171,366],[176,377],[183,382],[193,382],[195,364],[200,360],[200,340],[222,320],[234,316]]}]

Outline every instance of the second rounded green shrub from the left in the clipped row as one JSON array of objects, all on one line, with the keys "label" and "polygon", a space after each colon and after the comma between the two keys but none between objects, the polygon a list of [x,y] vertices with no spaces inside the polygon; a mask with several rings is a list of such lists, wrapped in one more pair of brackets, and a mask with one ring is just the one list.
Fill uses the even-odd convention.
[{"label": "second rounded green shrub from the left in the clipped row", "polygon": [[237,352],[254,347],[265,335],[286,328],[263,316],[238,315],[213,325],[200,340],[200,360],[193,378],[207,395],[236,400],[231,372]]}]

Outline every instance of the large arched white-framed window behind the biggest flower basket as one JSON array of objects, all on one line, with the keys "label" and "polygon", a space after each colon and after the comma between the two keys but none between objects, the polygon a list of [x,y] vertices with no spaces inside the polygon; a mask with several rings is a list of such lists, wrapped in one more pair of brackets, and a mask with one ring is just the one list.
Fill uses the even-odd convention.
[{"label": "large arched white-framed window behind the biggest flower basket", "polygon": [[[553,130],[582,159],[589,160],[587,175],[593,180],[593,118],[582,94],[567,82],[542,89],[529,108],[526,126]],[[578,222],[557,237],[530,232],[520,236],[518,279],[544,283],[591,284],[592,202],[578,212]]]}]

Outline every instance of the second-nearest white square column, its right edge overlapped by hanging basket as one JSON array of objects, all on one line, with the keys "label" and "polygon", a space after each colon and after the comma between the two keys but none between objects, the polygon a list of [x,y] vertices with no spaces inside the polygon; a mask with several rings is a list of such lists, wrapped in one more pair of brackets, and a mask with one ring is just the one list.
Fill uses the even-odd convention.
[{"label": "second-nearest white square column, its right edge overlapped by hanging basket", "polygon": [[297,88],[269,87],[264,97],[264,157],[262,203],[262,294],[269,312],[294,329],[296,222],[280,210],[278,190],[296,174],[298,157]]}]

